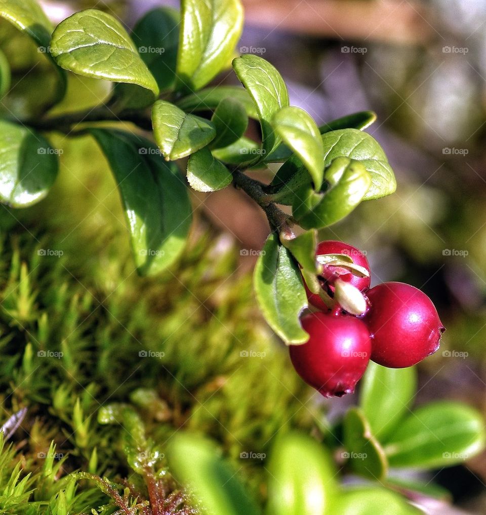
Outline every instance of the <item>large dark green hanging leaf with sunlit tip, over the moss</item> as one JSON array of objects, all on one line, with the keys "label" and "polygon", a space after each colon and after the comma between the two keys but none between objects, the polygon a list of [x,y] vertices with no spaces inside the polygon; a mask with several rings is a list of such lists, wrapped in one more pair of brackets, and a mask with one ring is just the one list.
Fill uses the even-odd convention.
[{"label": "large dark green hanging leaf with sunlit tip, over the moss", "polygon": [[177,166],[135,134],[89,129],[115,176],[132,252],[142,275],[169,267],[184,250],[191,224],[187,187]]}]

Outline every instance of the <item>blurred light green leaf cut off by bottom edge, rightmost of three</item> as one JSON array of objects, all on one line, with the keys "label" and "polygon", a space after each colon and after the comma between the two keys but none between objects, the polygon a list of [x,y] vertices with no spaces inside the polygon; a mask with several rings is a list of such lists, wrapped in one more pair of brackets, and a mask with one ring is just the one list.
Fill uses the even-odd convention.
[{"label": "blurred light green leaf cut off by bottom edge, rightmost of three", "polygon": [[[359,487],[339,495],[334,513],[339,515],[421,515],[404,497],[386,488]],[[329,514],[331,515],[331,513]]]}]

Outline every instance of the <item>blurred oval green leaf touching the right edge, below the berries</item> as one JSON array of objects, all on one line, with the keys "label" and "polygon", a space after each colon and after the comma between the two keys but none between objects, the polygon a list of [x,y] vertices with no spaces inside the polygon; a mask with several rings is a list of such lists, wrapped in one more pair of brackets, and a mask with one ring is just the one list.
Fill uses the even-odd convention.
[{"label": "blurred oval green leaf touching the right edge, below the berries", "polygon": [[420,407],[386,441],[391,467],[450,467],[484,449],[484,419],[478,411],[441,401]]}]

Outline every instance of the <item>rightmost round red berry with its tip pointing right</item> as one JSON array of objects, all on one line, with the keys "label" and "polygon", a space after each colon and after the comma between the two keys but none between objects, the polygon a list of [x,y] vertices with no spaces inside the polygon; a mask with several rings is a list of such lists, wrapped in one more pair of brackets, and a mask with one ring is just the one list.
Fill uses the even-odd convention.
[{"label": "rightmost round red berry with its tip pointing right", "polygon": [[439,348],[444,326],[433,302],[409,284],[382,283],[367,291],[364,317],[372,335],[371,359],[385,367],[411,367]]}]

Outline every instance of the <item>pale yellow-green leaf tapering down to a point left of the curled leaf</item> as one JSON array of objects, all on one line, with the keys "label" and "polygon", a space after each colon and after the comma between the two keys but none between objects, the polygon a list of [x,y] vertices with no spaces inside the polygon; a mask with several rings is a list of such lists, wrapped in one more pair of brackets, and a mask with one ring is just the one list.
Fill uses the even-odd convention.
[{"label": "pale yellow-green leaf tapering down to a point left of the curled leaf", "polygon": [[324,150],[312,117],[298,107],[284,107],[275,113],[273,128],[304,163],[314,181],[314,189],[319,191],[324,175]]}]

